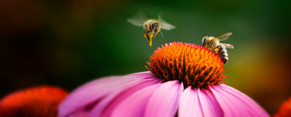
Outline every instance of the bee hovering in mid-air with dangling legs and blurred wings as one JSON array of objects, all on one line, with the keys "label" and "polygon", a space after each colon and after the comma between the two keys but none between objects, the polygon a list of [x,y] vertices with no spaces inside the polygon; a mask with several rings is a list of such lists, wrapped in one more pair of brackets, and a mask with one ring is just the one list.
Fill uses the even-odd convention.
[{"label": "bee hovering in mid-air with dangling legs and blurred wings", "polygon": [[[155,37],[155,35],[161,32],[161,29],[172,30],[176,28],[174,25],[171,25],[168,22],[164,21],[160,15],[158,16],[158,20],[148,20],[148,18],[141,11],[139,11],[136,16],[128,19],[127,21],[136,26],[143,26],[144,38],[148,39],[148,41],[150,42],[150,46],[152,46],[153,36]],[[163,36],[162,32],[161,35]]]}]

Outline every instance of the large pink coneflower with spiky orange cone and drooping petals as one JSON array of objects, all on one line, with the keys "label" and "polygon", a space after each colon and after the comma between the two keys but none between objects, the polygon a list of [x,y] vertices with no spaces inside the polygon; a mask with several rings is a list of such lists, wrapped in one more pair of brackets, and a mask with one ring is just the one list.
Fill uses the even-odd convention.
[{"label": "large pink coneflower with spiky orange cone and drooping petals", "polygon": [[213,51],[172,42],[157,48],[149,72],[100,78],[73,91],[58,117],[269,117],[255,101],[223,84]]}]

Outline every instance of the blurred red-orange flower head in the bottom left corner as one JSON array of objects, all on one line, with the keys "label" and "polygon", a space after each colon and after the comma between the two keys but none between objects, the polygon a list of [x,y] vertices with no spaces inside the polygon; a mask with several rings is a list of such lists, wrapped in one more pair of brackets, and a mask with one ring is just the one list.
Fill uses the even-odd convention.
[{"label": "blurred red-orange flower head in the bottom left corner", "polygon": [[58,104],[67,95],[53,86],[20,90],[0,100],[0,117],[56,117]]}]

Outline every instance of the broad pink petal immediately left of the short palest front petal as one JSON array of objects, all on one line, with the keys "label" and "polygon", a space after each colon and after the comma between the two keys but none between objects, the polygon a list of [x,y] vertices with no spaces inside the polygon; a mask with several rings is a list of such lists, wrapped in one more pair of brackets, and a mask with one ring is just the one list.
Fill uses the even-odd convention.
[{"label": "broad pink petal immediately left of the short palest front petal", "polygon": [[145,117],[174,117],[180,95],[183,92],[183,83],[178,80],[162,83],[149,99],[145,110]]}]

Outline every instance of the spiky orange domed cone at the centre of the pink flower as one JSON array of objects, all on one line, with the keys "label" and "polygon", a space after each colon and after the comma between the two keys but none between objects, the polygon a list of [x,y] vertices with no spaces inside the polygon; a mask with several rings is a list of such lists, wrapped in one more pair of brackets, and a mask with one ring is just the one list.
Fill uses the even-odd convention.
[{"label": "spiky orange domed cone at the centre of the pink flower", "polygon": [[146,68],[165,81],[179,80],[184,87],[207,88],[222,81],[223,62],[213,51],[192,43],[171,42],[157,48]]}]

